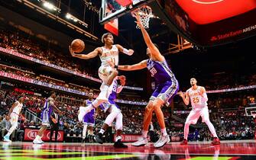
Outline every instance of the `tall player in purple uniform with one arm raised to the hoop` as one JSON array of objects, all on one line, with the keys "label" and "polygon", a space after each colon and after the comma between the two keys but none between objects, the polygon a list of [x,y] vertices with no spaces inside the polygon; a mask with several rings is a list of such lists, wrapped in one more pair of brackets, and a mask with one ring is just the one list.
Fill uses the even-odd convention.
[{"label": "tall player in purple uniform with one arm raised to the hoop", "polygon": [[149,59],[143,60],[132,66],[114,66],[113,62],[109,62],[109,64],[111,64],[112,67],[115,67],[116,69],[124,71],[133,71],[147,68],[149,72],[151,72],[151,76],[154,77],[157,86],[154,90],[154,93],[151,95],[144,113],[142,136],[137,142],[132,143],[132,146],[145,146],[147,144],[148,127],[151,123],[152,112],[154,110],[161,129],[160,138],[157,142],[154,143],[154,147],[159,148],[164,146],[167,142],[170,142],[170,138],[167,135],[167,130],[165,127],[164,114],[161,110],[161,106],[163,104],[169,104],[168,101],[170,101],[173,96],[177,94],[179,84],[173,72],[169,68],[166,60],[164,59],[164,56],[161,55],[157,46],[152,43],[151,38],[147,34],[147,31],[141,24],[141,19],[139,16],[134,14],[134,17],[137,19],[136,23],[141,28],[144,41],[147,44],[147,56],[149,56]]}]

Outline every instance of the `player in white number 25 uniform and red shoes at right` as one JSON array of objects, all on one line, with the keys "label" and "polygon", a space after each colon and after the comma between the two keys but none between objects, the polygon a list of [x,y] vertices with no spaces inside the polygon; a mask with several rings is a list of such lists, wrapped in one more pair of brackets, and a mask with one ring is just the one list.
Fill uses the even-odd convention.
[{"label": "player in white number 25 uniform and red shoes at right", "polygon": [[189,134],[190,124],[196,124],[200,116],[202,117],[203,122],[207,124],[209,130],[213,135],[212,145],[219,145],[219,138],[215,132],[214,126],[209,120],[209,110],[207,107],[208,98],[206,94],[206,89],[202,86],[196,85],[196,83],[196,78],[191,78],[190,85],[192,87],[186,90],[185,95],[182,91],[178,93],[186,105],[189,105],[191,101],[191,105],[193,107],[193,109],[190,111],[189,116],[186,118],[184,126],[184,139],[183,142],[180,143],[180,145],[187,145],[187,136]]}]

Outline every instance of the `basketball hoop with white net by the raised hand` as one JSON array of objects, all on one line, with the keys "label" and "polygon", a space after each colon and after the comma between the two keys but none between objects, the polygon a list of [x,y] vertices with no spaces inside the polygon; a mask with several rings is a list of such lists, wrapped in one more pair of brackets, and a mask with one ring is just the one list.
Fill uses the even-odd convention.
[{"label": "basketball hoop with white net by the raised hand", "polygon": [[[144,5],[141,8],[136,9],[135,11],[132,11],[132,14],[138,14],[141,18],[141,24],[144,26],[144,28],[149,28],[149,21],[151,17],[153,17],[152,9],[151,7]],[[140,27],[136,26],[137,29],[140,29]]]}]

